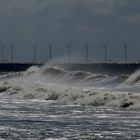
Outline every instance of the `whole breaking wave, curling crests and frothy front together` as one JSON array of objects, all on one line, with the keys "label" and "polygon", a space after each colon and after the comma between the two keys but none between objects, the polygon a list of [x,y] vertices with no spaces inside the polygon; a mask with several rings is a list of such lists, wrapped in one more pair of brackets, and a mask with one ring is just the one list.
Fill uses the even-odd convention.
[{"label": "whole breaking wave, curling crests and frothy front together", "polygon": [[140,108],[140,71],[109,75],[58,66],[34,66],[20,74],[2,76],[0,98]]}]

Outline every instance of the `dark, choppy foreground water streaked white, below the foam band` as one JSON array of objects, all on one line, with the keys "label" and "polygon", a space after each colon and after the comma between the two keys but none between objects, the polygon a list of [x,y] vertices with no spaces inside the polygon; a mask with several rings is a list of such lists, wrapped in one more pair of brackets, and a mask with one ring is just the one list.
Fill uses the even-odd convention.
[{"label": "dark, choppy foreground water streaked white, below the foam band", "polygon": [[0,139],[138,139],[140,111],[1,100]]}]

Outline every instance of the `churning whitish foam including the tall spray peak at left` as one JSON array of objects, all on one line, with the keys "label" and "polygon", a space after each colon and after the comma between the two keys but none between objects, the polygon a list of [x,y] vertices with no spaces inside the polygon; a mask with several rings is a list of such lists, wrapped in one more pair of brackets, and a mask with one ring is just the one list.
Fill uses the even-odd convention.
[{"label": "churning whitish foam including the tall spray peak at left", "polygon": [[106,87],[77,87],[64,85],[61,82],[59,84],[50,82],[42,75],[42,71],[38,67],[30,68],[20,77],[1,80],[0,98],[32,101],[53,100],[56,103],[65,104],[140,108],[140,93],[117,92]]}]

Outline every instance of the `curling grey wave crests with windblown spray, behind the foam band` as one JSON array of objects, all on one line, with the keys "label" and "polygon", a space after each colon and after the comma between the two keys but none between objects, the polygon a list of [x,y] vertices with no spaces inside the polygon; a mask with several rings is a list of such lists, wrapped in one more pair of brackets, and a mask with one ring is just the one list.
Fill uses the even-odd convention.
[{"label": "curling grey wave crests with windblown spray, behind the foam band", "polygon": [[35,72],[42,75],[44,79],[46,78],[47,82],[72,86],[116,86],[128,78],[127,74],[110,76],[81,70],[70,71],[58,66],[43,67],[40,70],[38,70],[38,67],[33,67],[25,73],[29,75]]}]

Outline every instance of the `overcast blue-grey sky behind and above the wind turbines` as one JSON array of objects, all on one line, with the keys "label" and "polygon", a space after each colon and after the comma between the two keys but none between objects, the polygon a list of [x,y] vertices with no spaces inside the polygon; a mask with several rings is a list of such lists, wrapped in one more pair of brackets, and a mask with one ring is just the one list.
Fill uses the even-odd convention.
[{"label": "overcast blue-grey sky behind and above the wind turbines", "polygon": [[[128,43],[128,61],[140,61],[139,0],[0,0],[0,45],[5,61],[47,61],[48,45],[53,57],[66,60],[71,45],[71,60],[104,60],[103,44],[108,45],[107,59],[124,61],[123,43]],[[0,50],[1,51],[1,50]],[[1,54],[1,53],[0,53]],[[1,59],[1,55],[0,55]]]}]

